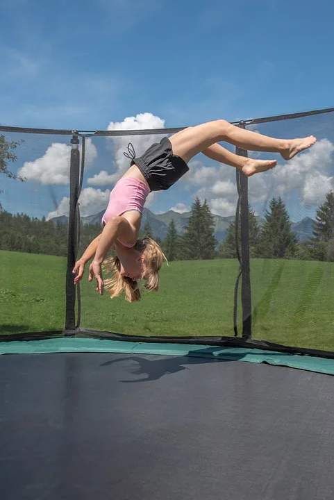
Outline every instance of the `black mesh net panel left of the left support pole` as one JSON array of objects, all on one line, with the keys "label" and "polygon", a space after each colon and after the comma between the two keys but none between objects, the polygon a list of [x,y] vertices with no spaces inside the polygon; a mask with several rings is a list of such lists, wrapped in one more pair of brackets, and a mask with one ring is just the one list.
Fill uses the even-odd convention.
[{"label": "black mesh net panel left of the left support pole", "polygon": [[0,140],[1,334],[61,331],[68,224],[57,210],[68,201],[70,138]]}]

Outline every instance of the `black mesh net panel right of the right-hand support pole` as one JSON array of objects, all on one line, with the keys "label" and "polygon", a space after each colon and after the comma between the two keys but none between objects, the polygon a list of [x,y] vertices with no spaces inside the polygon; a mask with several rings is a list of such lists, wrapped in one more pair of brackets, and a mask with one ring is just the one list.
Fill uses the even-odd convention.
[{"label": "black mesh net panel right of the right-hand support pole", "polygon": [[251,126],[317,143],[249,178],[252,338],[334,350],[334,113]]}]

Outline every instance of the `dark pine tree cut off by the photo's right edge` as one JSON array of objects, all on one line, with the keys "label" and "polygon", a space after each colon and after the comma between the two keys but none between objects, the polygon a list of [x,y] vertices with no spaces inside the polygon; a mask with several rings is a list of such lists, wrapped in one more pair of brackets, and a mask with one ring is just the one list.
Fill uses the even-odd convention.
[{"label": "dark pine tree cut off by the photo's right edge", "polygon": [[319,206],[313,224],[313,237],[309,245],[312,257],[317,260],[334,260],[334,193],[326,194],[326,201]]}]

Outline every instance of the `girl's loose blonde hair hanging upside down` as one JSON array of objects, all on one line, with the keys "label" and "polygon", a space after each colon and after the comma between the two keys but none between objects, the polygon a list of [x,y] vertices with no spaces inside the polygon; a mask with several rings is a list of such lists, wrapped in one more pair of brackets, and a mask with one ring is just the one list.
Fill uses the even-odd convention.
[{"label": "girl's loose blonde hair hanging upside down", "polygon": [[[138,240],[133,248],[144,255],[145,269],[142,274],[142,280],[146,280],[144,288],[149,292],[156,292],[159,288],[158,271],[162,266],[163,259],[166,260],[168,265],[165,254],[158,243],[151,238]],[[104,280],[105,289],[110,294],[111,299],[118,297],[119,294],[124,292],[126,301],[140,301],[141,295],[138,282],[132,281],[131,278],[127,278],[126,276],[121,276],[121,263],[118,256],[108,258],[103,264],[103,269],[107,273],[113,274],[111,278]]]}]

